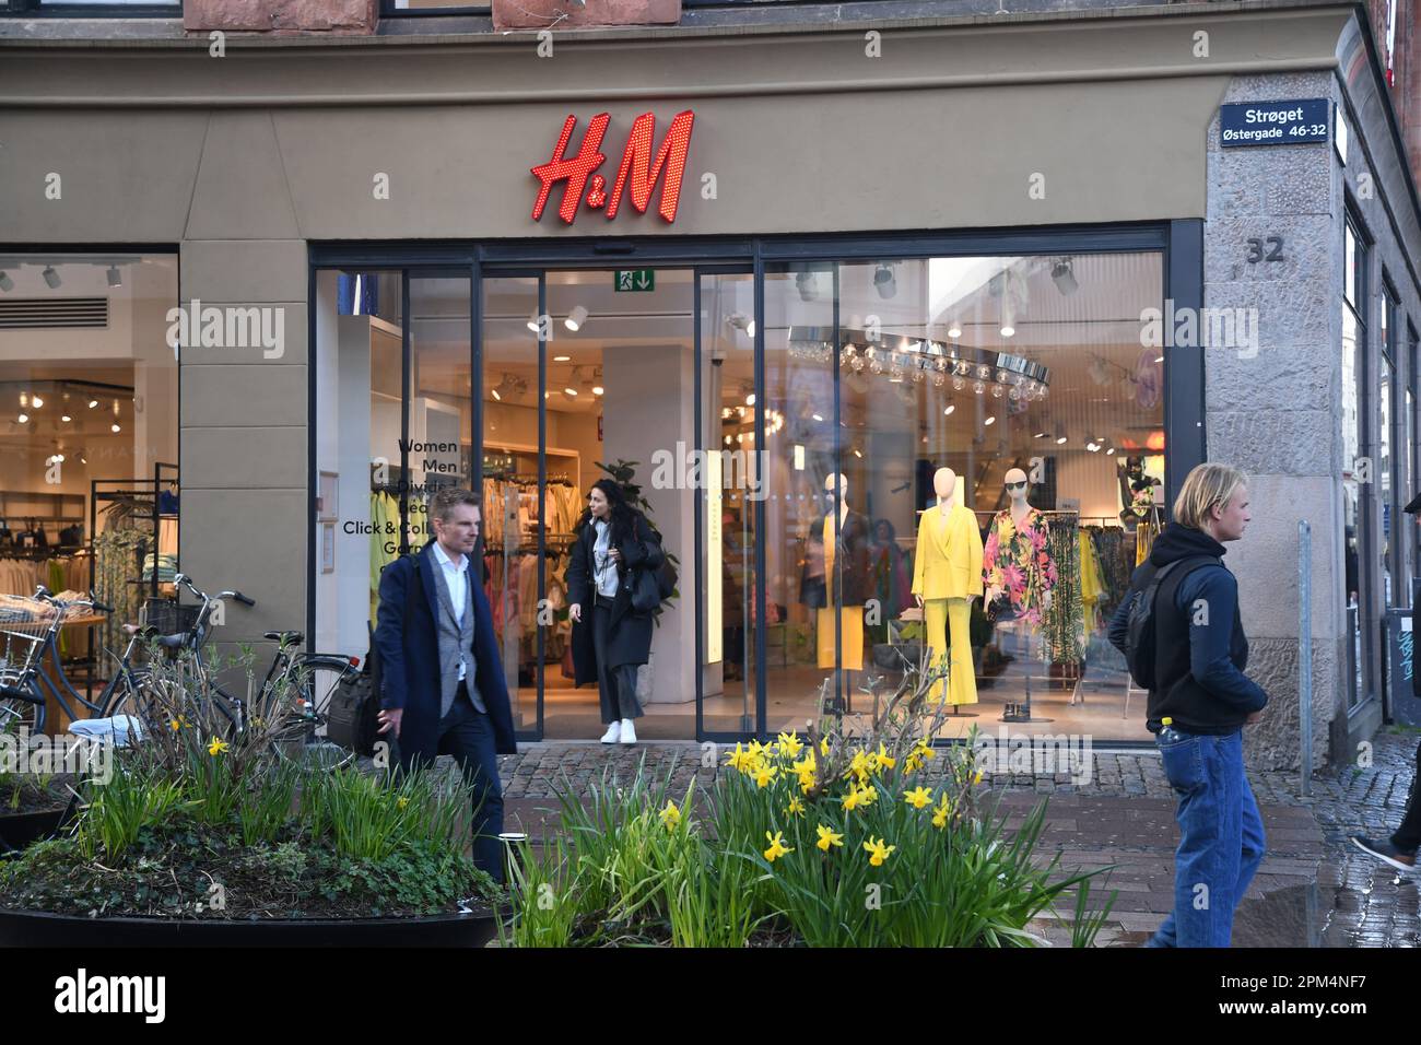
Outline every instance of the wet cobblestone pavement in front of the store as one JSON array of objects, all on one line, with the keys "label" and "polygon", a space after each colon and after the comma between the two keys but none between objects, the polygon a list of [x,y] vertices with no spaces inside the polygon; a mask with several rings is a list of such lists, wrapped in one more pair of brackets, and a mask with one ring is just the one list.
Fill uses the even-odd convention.
[{"label": "wet cobblestone pavement in front of the store", "polygon": [[[1418,876],[1398,877],[1347,840],[1357,833],[1390,835],[1400,823],[1415,773],[1417,741],[1415,731],[1378,734],[1370,766],[1319,771],[1306,798],[1297,772],[1249,773],[1263,812],[1268,854],[1239,909],[1235,945],[1421,945]],[[585,793],[604,773],[628,779],[639,765],[681,795],[692,778],[698,786],[713,782],[723,761],[723,746],[693,742],[529,744],[499,759],[507,826],[534,837],[556,829],[556,815],[543,810],[556,808],[560,782],[571,793]],[[1049,799],[1043,859],[1059,853],[1063,870],[1111,866],[1103,891],[1117,897],[1098,943],[1142,943],[1172,903],[1178,843],[1174,796],[1158,755],[1093,752],[1090,772],[1076,768],[1074,779],[1044,768],[1032,772],[1025,759],[1013,761],[1022,763],[1002,763],[1007,772],[990,781],[1007,825]],[[1042,928],[1054,943],[1069,938],[1057,927]]]}]

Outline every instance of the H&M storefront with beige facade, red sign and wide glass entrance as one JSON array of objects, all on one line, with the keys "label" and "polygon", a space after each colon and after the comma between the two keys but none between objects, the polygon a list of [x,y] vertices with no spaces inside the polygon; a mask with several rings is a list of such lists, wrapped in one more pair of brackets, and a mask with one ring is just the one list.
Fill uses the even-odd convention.
[{"label": "H&M storefront with beige facade, red sign and wide glass entrance", "polygon": [[[926,641],[971,668],[953,735],[1142,741],[1104,623],[1205,459],[1205,351],[1161,331],[1205,303],[1219,105],[1331,97],[1350,17],[7,47],[13,173],[65,188],[0,240],[175,253],[176,301],[280,314],[280,351],[180,353],[182,569],[257,597],[232,644],[364,654],[468,485],[523,735],[595,738],[566,550],[634,462],[681,574],[642,736],[801,727],[826,682],[861,712]],[[944,469],[983,545],[951,621],[914,599]]]}]

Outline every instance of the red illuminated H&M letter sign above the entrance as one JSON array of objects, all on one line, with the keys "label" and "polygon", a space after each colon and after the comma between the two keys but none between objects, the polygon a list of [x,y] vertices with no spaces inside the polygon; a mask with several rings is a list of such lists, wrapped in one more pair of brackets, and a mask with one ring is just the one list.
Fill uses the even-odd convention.
[{"label": "red illuminated H&M letter sign above the entrance", "polygon": [[[651,191],[657,181],[665,175],[661,185],[661,205],[657,208],[668,222],[676,220],[676,203],[681,200],[681,179],[686,172],[686,152],[691,149],[691,125],[696,115],[691,109],[678,112],[671,121],[671,129],[655,159],[651,155],[652,131],[657,119],[649,112],[642,112],[631,125],[631,135],[627,138],[627,148],[622,149],[622,162],[617,168],[617,181],[611,193],[607,192],[607,179],[600,173],[593,173],[603,165],[607,156],[601,152],[603,135],[611,117],[598,112],[583,134],[583,146],[577,155],[568,159],[567,142],[577,127],[577,117],[568,117],[563,122],[563,134],[558,135],[553,158],[531,168],[534,176],[543,183],[539,189],[537,202],[533,205],[533,220],[543,218],[543,208],[547,205],[549,193],[558,182],[566,182],[563,189],[563,203],[557,209],[557,216],[567,225],[577,216],[577,205],[583,200],[583,189],[587,188],[587,206],[594,210],[605,209],[607,218],[615,218],[621,208],[622,191],[631,188],[631,205],[638,213],[647,213],[651,203]],[[591,185],[588,186],[588,181]]]}]

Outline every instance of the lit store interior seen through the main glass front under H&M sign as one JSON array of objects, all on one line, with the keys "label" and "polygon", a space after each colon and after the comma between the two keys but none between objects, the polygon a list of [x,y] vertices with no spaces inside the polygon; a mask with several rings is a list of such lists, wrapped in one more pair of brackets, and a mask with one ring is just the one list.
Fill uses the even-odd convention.
[{"label": "lit store interior seen through the main glass front under H&M sign", "polygon": [[[921,513],[934,509],[934,476],[948,468],[955,500],[975,515],[992,597],[972,601],[971,650],[953,653],[971,665],[972,700],[951,707],[945,735],[976,725],[1145,739],[1144,695],[1127,685],[1106,623],[1164,518],[1164,360],[1140,337],[1141,311],[1161,300],[1160,256],[772,266],[760,455],[747,273],[699,276],[698,439],[696,279],[689,269],[549,270],[540,309],[539,277],[485,276],[485,589],[520,728],[537,729],[541,687],[544,736],[601,732],[594,688],[573,688],[568,678],[563,577],[585,492],[604,475],[598,462],[624,461],[635,462],[682,576],[644,672],[639,735],[693,738],[698,681],[703,731],[753,732],[760,671],[770,732],[803,728],[826,680],[838,687],[836,704],[860,717],[874,707],[865,687],[877,678],[882,707],[904,665],[931,645],[935,624],[911,589]],[[469,279],[409,280],[404,415],[399,273],[321,273],[318,290],[325,508],[317,630],[331,648],[354,648],[365,641],[378,567],[398,554],[399,483],[411,491],[404,530],[414,546],[425,539],[421,505],[431,492],[473,485]],[[723,451],[699,461],[715,468],[715,481],[688,482],[698,442]],[[369,466],[365,456],[375,462],[368,491],[344,481]],[[1026,481],[1015,510],[1012,469]],[[855,549],[841,530],[853,554],[833,569],[840,579],[845,569],[867,576],[836,587],[864,601],[841,603],[826,630],[834,614],[823,604],[824,522],[838,502],[824,495],[840,475],[843,519],[857,519],[865,540]],[[357,519],[381,533],[350,526]],[[1023,539],[1034,540],[1029,554]],[[755,658],[759,547],[763,665]],[[688,613],[695,594],[699,614]]]}]

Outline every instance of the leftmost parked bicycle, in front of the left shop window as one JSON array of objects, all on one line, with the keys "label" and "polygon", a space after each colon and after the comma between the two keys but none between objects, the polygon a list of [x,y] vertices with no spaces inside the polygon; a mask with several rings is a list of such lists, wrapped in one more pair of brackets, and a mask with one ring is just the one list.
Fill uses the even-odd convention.
[{"label": "leftmost parked bicycle, in front of the left shop window", "polygon": [[[95,701],[90,701],[64,674],[60,658],[58,637],[64,628],[64,621],[72,610],[91,609],[101,613],[112,613],[114,607],[105,606],[94,599],[57,599],[47,587],[40,584],[30,600],[41,607],[48,616],[44,630],[40,633],[20,630],[43,621],[9,621],[0,624],[0,636],[4,637],[4,651],[0,655],[0,731],[11,727],[28,727],[31,734],[40,734],[45,725],[45,697],[53,697],[70,721],[81,718],[108,718],[121,714],[119,708],[126,707],[142,680],[142,670],[134,664],[134,653],[142,638],[142,628],[125,624],[129,633],[128,647],[124,655],[118,657],[118,670],[108,680]],[[23,653],[16,657],[16,648]],[[50,657],[53,672],[44,672],[45,655]],[[112,655],[112,654],[109,654]],[[74,698],[71,705],[67,697]],[[78,714],[75,707],[87,708],[88,715]]]}]

